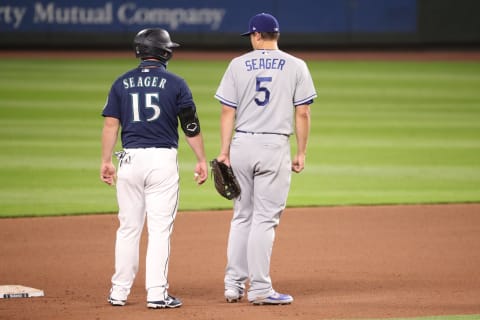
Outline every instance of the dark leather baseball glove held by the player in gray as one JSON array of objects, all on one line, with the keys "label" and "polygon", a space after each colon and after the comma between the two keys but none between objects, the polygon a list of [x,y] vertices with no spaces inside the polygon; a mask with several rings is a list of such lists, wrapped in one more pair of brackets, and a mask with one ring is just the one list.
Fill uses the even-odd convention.
[{"label": "dark leather baseball glove held by the player in gray", "polygon": [[218,193],[228,200],[232,200],[240,195],[240,185],[233,174],[232,167],[227,166],[217,159],[210,161],[215,189]]}]

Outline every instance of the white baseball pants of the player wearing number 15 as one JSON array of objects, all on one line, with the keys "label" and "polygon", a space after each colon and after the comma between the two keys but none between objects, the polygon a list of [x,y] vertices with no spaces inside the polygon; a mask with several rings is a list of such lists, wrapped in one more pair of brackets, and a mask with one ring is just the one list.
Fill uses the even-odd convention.
[{"label": "white baseball pants of the player wearing number 15", "polygon": [[170,236],[177,213],[179,174],[177,149],[126,149],[119,163],[119,206],[115,244],[114,299],[126,300],[139,265],[139,245],[147,218],[147,301],[166,298]]}]

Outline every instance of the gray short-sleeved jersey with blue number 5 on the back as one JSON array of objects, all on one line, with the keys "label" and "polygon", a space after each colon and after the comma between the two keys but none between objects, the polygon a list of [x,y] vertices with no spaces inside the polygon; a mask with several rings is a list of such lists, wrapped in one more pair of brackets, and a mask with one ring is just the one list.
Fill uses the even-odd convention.
[{"label": "gray short-sleeved jersey with blue number 5 on the back", "polygon": [[236,108],[235,129],[293,133],[294,106],[317,97],[307,64],[281,50],[253,50],[234,58],[215,98]]}]

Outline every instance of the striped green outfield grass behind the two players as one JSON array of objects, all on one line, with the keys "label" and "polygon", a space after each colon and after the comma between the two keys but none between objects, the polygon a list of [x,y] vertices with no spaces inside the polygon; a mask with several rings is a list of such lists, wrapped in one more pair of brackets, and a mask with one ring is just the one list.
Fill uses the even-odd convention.
[{"label": "striped green outfield grass behind the two players", "polygon": [[[289,206],[480,201],[480,63],[308,63],[319,98]],[[99,180],[100,113],[112,81],[136,64],[0,60],[0,216],[116,211],[114,188]],[[213,95],[227,64],[169,66],[191,86],[208,158],[219,150]],[[231,208],[211,180],[193,183],[183,139],[179,159],[180,210]]]}]

